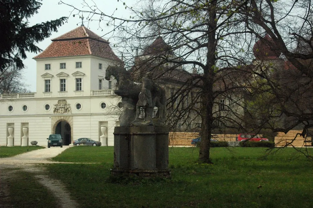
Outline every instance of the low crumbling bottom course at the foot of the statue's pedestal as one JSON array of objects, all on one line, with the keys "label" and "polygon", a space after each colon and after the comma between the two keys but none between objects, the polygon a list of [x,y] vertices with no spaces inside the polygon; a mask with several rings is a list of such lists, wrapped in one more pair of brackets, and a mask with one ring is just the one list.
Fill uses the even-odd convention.
[{"label": "low crumbling bottom course at the foot of the statue's pedestal", "polygon": [[129,170],[114,168],[111,170],[111,175],[114,176],[133,176],[142,178],[171,178],[171,170]]}]

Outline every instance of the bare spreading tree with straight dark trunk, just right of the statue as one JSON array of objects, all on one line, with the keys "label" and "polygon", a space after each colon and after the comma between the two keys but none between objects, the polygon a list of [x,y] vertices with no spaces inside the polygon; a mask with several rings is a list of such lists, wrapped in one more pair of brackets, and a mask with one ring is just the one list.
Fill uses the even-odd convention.
[{"label": "bare spreading tree with straight dark trunk, just right of the statue", "polygon": [[[89,20],[99,20],[99,27],[103,27],[102,23],[113,27],[110,38],[117,41],[113,48],[123,53],[126,67],[133,67],[131,71],[140,75],[135,76],[137,79],[150,75],[164,81],[164,76],[187,73],[178,79],[181,82],[168,100],[169,118],[173,119],[169,124],[177,124],[178,120],[187,124],[190,119],[197,122],[201,117],[200,161],[211,162],[210,139],[218,126],[245,131],[266,127],[277,131],[303,123],[299,120],[288,128],[270,123],[283,114],[295,114],[291,107],[282,108],[287,102],[282,100],[284,92],[278,93],[275,88],[279,82],[269,73],[273,67],[269,61],[254,61],[258,53],[253,46],[261,39],[269,51],[311,79],[310,67],[301,61],[313,57],[307,52],[311,50],[292,50],[300,41],[312,48],[310,1],[145,0],[140,2],[140,9],[121,3],[133,12],[130,18],[105,14],[87,1],[83,1],[83,9],[74,8],[73,12],[89,13]],[[295,16],[296,9],[304,9],[303,15]],[[264,48],[256,50],[267,53]],[[257,102],[262,99],[275,100],[275,108]],[[254,105],[249,105],[251,100]],[[256,110],[257,105],[262,106],[261,111]],[[300,118],[302,113],[296,116]],[[247,118],[255,121],[253,125]]]}]

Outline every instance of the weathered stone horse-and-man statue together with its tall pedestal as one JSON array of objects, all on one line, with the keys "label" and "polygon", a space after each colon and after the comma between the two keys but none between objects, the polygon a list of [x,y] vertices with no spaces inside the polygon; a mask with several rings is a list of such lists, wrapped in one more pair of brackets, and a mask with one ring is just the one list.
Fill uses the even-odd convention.
[{"label": "weathered stone horse-and-man statue together with its tall pedestal", "polygon": [[[115,77],[122,97],[120,126],[114,127],[114,168],[112,175],[171,177],[168,169],[168,128],[165,126],[164,88],[146,77],[141,83],[131,80],[125,68],[109,66],[105,79]],[[156,118],[152,118],[157,107]],[[141,109],[144,118],[139,117]]]}]

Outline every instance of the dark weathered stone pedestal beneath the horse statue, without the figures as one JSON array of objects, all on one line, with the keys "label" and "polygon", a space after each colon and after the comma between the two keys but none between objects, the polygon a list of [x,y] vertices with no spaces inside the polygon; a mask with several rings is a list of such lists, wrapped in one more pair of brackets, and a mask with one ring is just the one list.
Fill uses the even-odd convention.
[{"label": "dark weathered stone pedestal beneath the horse statue, without the figures", "polygon": [[114,128],[112,175],[171,177],[168,169],[168,128],[121,126]]}]

